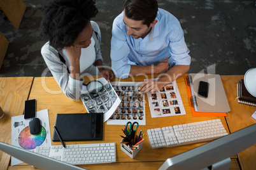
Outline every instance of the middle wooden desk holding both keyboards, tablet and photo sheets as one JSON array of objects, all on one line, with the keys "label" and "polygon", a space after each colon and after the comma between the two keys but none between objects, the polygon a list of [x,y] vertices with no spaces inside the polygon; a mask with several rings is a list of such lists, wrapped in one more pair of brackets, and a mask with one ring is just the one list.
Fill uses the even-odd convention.
[{"label": "middle wooden desk holding both keyboards, tablet and photo sheets", "polygon": [[[143,81],[145,77],[135,77],[135,81]],[[115,79],[114,81],[118,81]],[[124,79],[121,81],[132,81],[131,78]],[[197,122],[205,121],[209,119],[218,119],[222,120],[227,131],[227,124],[225,122],[225,117],[192,117],[190,107],[188,107],[188,95],[187,89],[185,86],[185,81],[183,77],[177,80],[178,88],[180,91],[183,104],[185,105],[186,115],[171,116],[164,118],[151,118],[150,109],[148,103],[146,103],[146,126],[139,126],[139,129],[142,128],[144,133],[147,129],[160,128],[164,126],[174,126],[176,124],[183,124],[188,122]],[[51,136],[53,134],[53,125],[55,124],[56,114],[59,113],[83,113],[87,112],[85,107],[82,104],[82,101],[73,101],[66,97],[59,86],[55,82],[53,77],[35,77],[34,82],[31,88],[31,94],[29,99],[36,98],[37,100],[37,110],[48,109],[49,119],[50,119],[50,129]],[[146,96],[145,96],[146,98]],[[147,100],[146,100],[147,101]],[[157,169],[160,165],[169,157],[174,155],[181,154],[187,150],[198,147],[203,143],[195,145],[187,145],[183,147],[173,147],[173,148],[159,148],[154,149],[150,147],[148,137],[145,135],[145,141],[143,142],[143,148],[139,153],[131,159],[120,149],[120,134],[122,134],[121,129],[124,125],[106,125],[104,122],[104,132],[102,141],[66,141],[66,144],[78,144],[78,143],[105,143],[105,142],[115,142],[117,143],[117,162],[112,164],[94,164],[94,165],[85,165],[81,166],[87,169],[115,169],[115,168],[131,168],[131,169]],[[110,133],[111,132],[111,133]],[[52,142],[52,145],[61,145],[60,142]],[[238,163],[236,157],[232,159],[233,169],[237,169]],[[26,169],[29,166],[14,166],[10,169],[15,169],[19,167],[20,169]],[[239,169],[239,167],[238,167]]]}]

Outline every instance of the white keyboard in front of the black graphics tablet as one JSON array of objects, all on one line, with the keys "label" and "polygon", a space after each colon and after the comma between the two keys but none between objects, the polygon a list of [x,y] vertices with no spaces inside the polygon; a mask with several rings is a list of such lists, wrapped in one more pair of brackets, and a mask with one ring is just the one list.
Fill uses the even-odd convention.
[{"label": "white keyboard in front of the black graphics tablet", "polygon": [[115,143],[36,147],[36,153],[73,165],[116,162]]}]

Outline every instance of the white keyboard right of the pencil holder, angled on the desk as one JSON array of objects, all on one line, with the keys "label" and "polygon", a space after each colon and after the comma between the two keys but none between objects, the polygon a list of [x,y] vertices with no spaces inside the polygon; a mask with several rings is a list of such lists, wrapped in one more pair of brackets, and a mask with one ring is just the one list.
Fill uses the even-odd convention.
[{"label": "white keyboard right of the pencil holder, angled on the desk", "polygon": [[209,141],[228,134],[220,119],[148,129],[147,132],[152,148]]}]

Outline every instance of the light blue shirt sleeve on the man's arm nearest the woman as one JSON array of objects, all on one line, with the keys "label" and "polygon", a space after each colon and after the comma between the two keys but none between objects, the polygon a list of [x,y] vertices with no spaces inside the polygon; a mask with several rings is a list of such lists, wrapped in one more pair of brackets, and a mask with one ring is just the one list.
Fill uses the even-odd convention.
[{"label": "light blue shirt sleeve on the man's arm nearest the woman", "polygon": [[131,65],[128,63],[130,48],[127,44],[125,32],[117,25],[117,18],[113,22],[111,38],[111,66],[118,78],[125,79],[128,77]]}]

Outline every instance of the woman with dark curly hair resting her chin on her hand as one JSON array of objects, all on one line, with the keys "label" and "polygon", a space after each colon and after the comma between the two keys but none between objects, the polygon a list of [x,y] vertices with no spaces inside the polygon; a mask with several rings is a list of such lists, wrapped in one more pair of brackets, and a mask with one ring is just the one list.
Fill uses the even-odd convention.
[{"label": "woman with dark curly hair resting her chin on her hand", "polygon": [[98,10],[92,0],[54,0],[43,11],[42,34],[48,42],[41,54],[55,81],[66,96],[78,100],[82,75],[113,79],[112,70],[103,67],[101,32],[90,18]]}]

